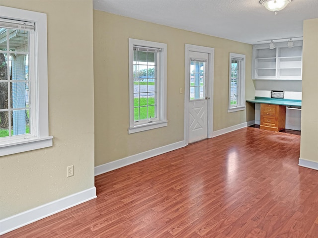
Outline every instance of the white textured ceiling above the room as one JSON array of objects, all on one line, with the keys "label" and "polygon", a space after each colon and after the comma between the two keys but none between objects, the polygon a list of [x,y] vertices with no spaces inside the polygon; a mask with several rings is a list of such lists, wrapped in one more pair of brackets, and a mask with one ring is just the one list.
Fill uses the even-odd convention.
[{"label": "white textured ceiling above the room", "polygon": [[259,0],[93,0],[93,6],[100,11],[248,44],[303,36],[303,20],[318,18],[318,0],[292,0],[277,15]]}]

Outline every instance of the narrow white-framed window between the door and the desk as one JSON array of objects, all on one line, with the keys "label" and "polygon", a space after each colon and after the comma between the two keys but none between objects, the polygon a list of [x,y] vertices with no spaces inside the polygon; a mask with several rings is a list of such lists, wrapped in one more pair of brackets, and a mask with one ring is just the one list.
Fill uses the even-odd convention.
[{"label": "narrow white-framed window between the door and the desk", "polygon": [[245,109],[245,55],[230,53],[228,112]]}]

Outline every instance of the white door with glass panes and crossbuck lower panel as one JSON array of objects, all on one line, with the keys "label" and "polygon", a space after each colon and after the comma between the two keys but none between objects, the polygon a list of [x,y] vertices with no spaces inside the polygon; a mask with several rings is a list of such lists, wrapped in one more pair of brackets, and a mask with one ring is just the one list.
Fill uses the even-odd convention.
[{"label": "white door with glass panes and crossbuck lower panel", "polygon": [[208,137],[209,54],[189,52],[188,143]]}]

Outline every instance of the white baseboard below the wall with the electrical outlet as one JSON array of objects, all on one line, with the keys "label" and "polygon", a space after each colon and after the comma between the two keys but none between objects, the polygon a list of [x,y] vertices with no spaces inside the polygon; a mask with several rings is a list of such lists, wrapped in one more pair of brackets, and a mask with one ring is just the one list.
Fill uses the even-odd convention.
[{"label": "white baseboard below the wall with the electrical outlet", "polygon": [[79,205],[80,203],[89,201],[93,198],[96,198],[95,187],[46,203],[39,207],[32,208],[14,216],[4,218],[0,220],[0,236],[32,222]]}]

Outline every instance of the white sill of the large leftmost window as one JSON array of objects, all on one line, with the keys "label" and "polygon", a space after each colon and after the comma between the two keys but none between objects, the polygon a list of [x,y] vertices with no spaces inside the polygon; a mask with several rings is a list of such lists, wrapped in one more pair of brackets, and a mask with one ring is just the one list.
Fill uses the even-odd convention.
[{"label": "white sill of the large leftmost window", "polygon": [[53,136],[37,139],[24,139],[21,141],[12,141],[0,145],[0,156],[11,155],[30,150],[37,150],[41,148],[51,147],[52,145]]}]

